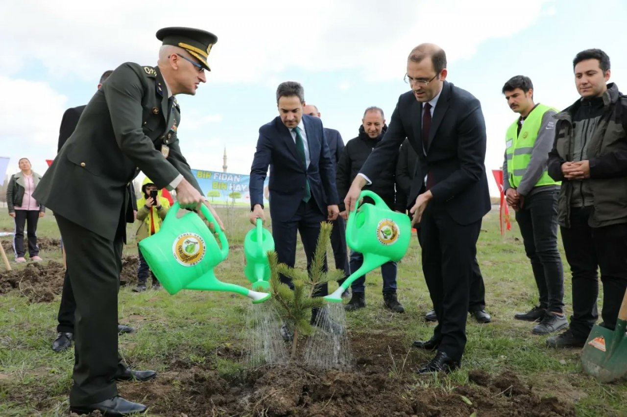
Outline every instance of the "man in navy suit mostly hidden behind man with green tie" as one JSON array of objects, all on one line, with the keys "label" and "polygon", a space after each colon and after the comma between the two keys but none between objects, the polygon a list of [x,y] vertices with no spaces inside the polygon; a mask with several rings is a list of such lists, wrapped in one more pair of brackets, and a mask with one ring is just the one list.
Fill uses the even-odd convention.
[{"label": "man in navy suit mostly hidden behind man with green tie", "polygon": [[[305,105],[305,115],[320,118],[320,111],[314,105]],[[329,145],[329,155],[335,172],[337,173],[337,162],[339,162],[342,152],[344,152],[344,141],[342,135],[335,129],[323,128],[324,136],[327,138]],[[335,269],[344,270],[344,279],[350,274],[348,251],[346,249],[346,225],[342,216],[337,216],[333,222],[333,230],[331,231],[331,247],[333,248],[333,257],[335,259]],[[340,286],[344,283],[344,279],[337,281]],[[342,293],[342,297],[350,297],[350,289],[346,289]]]}]

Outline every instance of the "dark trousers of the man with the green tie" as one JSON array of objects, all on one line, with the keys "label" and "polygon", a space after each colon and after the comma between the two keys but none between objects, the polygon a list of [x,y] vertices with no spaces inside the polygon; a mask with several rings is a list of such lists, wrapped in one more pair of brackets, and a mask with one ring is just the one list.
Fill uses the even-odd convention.
[{"label": "dark trousers of the man with the green tie", "polygon": [[[305,202],[300,202],[296,214],[287,222],[272,220],[272,235],[275,240],[275,250],[277,251],[278,262],[282,262],[293,267],[296,262],[296,235],[300,233],[303,242],[305,256],[307,256],[307,270],[311,268],[314,260],[315,246],[320,234],[320,222],[326,220],[327,216],[320,213],[320,209],[314,202],[314,198]],[[327,270],[327,259],[325,257],[324,270]],[[281,281],[293,289],[292,280],[281,275]],[[327,283],[320,284],[314,290],[314,297],[322,297],[329,294]]]}]

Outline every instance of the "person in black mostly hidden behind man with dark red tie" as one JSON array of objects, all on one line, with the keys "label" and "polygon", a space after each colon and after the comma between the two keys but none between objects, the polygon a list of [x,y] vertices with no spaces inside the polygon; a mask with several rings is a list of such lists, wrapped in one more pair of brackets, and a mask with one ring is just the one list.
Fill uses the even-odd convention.
[{"label": "person in black mostly hidden behind man with dark red tie", "polygon": [[[411,147],[409,140],[405,140],[398,153],[398,162],[396,163],[396,210],[405,212],[411,207],[407,198],[411,183],[416,173],[416,162],[418,155]],[[420,227],[416,227],[418,242],[420,242]],[[483,284],[483,275],[479,268],[479,262],[475,256],[475,262],[472,267],[472,278],[470,281],[470,304],[468,304],[468,312],[475,320],[481,324],[489,323],[492,317],[485,311],[485,285]],[[424,315],[426,321],[438,321],[435,309],[431,309]]]}]

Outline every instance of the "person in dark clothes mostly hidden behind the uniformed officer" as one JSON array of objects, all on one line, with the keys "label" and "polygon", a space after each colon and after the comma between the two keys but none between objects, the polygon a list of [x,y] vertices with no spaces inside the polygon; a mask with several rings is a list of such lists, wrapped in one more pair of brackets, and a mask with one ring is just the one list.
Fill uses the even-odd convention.
[{"label": "person in dark clothes mostly hidden behind the uniformed officer", "polygon": [[[107,78],[111,75],[113,71],[107,70],[102,76],[100,76],[100,83],[98,83],[98,90],[102,87],[102,83],[107,80]],[[63,145],[65,145],[66,140],[74,133],[76,125],[78,124],[78,119],[80,119],[80,115],[82,115],[83,110],[85,110],[85,106],[71,107],[63,113],[63,118],[61,119],[61,127],[59,128],[59,142],[57,145],[56,152],[59,152]],[[134,212],[137,212],[137,200],[135,198],[135,190],[133,188],[133,183],[129,184],[129,197],[130,200],[135,204]],[[68,270],[65,270],[65,277],[63,277],[63,291],[61,292],[61,302],[59,304],[59,312],[57,315],[57,320],[59,322],[58,326],[56,326],[56,339],[52,342],[52,350],[55,352],[65,351],[65,349],[70,348],[72,344],[72,339],[74,337],[74,312],[76,311],[76,300],[74,299],[74,293],[72,292],[72,286],[70,284],[70,274],[68,274]],[[123,324],[118,324],[118,332],[119,333],[130,333],[135,331],[133,327],[125,326]]]}]

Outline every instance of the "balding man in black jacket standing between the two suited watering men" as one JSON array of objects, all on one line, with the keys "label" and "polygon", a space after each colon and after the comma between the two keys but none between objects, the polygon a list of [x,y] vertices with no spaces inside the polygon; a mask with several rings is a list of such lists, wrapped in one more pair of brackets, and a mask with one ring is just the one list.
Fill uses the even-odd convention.
[{"label": "balding man in black jacket standing between the two suited watering men", "polygon": [[[378,107],[369,107],[364,112],[362,125],[359,126],[359,136],[349,140],[344,148],[344,152],[337,163],[337,193],[340,201],[344,199],[349,190],[350,183],[355,179],[366,159],[381,141],[386,132],[386,120],[383,110]],[[394,175],[396,171],[396,157],[384,169],[372,178],[372,184],[365,187],[367,190],[377,193],[379,197],[394,209],[396,192],[394,190]],[[369,202],[370,198],[365,198]],[[344,219],[348,217],[347,208],[340,203],[340,214]],[[364,255],[354,250],[350,251],[350,270],[354,271],[361,267],[364,262]],[[383,277],[383,301],[388,309],[394,312],[404,312],[403,305],[396,298],[396,271],[397,264],[394,261],[381,265],[381,275]],[[366,307],[366,276],[359,277],[352,285],[352,297],[344,308],[352,311]]]}]

